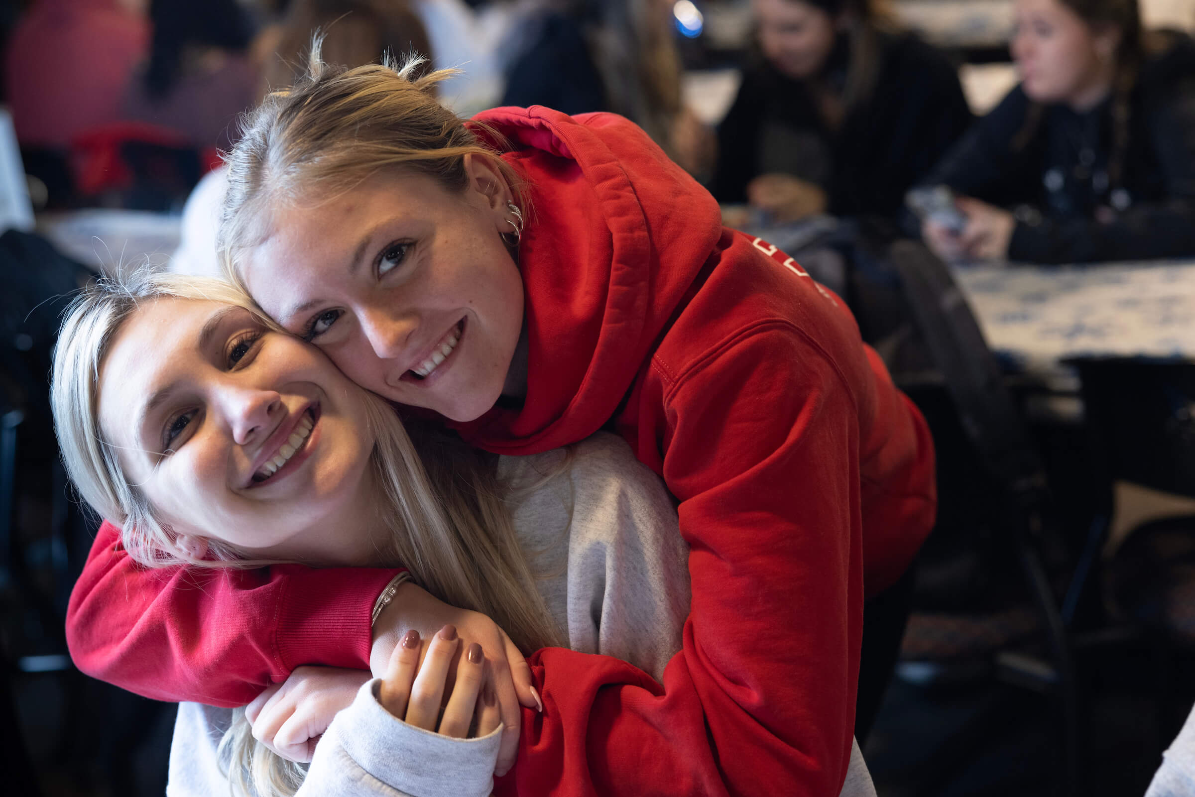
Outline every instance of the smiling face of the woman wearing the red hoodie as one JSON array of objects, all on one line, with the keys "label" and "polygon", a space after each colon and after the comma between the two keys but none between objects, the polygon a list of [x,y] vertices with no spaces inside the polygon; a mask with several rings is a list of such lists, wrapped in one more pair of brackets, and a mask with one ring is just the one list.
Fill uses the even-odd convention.
[{"label": "smiling face of the woman wearing the red hoodie", "polygon": [[454,421],[505,392],[522,329],[505,182],[466,157],[464,192],[385,172],[320,203],[275,209],[240,258],[253,299],[358,385]]}]

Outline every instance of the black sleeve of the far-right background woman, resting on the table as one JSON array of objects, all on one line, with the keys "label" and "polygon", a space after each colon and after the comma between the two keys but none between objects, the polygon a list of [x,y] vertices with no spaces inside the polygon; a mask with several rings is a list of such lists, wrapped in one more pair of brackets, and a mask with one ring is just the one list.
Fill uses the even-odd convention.
[{"label": "black sleeve of the far-right background woman, resting on the table", "polygon": [[1009,259],[1029,263],[1189,257],[1195,253],[1195,84],[1175,91],[1147,122],[1165,200],[1104,223],[1092,219],[1017,223]]}]

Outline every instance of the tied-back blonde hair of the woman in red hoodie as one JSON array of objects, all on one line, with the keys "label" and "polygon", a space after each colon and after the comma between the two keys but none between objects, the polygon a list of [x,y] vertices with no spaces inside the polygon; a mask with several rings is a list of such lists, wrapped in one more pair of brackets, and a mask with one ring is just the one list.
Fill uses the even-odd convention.
[{"label": "tied-back blonde hair of the woman in red hoodie", "polygon": [[239,253],[264,234],[270,209],[313,190],[337,195],[387,168],[464,191],[465,155],[485,158],[522,203],[517,174],[496,154],[502,136],[479,122],[466,125],[436,102],[435,85],[455,70],[419,74],[422,56],[345,69],[321,60],[321,41],[312,43],[305,78],[271,92],[244,117],[241,137],[225,158],[219,249],[226,276],[239,282]]}]

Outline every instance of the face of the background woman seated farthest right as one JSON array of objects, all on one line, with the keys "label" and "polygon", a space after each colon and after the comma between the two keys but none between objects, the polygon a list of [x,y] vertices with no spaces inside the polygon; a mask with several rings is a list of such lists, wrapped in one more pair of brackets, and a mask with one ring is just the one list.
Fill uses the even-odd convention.
[{"label": "face of the background woman seated farthest right", "polygon": [[1010,50],[1025,94],[1086,110],[1108,93],[1120,33],[1093,29],[1059,0],[1016,0]]}]

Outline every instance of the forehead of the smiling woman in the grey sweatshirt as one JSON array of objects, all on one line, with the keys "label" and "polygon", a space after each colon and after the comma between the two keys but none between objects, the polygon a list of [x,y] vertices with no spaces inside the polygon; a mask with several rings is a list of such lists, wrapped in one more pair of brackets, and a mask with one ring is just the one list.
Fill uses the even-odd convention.
[{"label": "forehead of the smiling woman in the grey sweatshirt", "polygon": [[99,424],[114,443],[133,442],[141,403],[170,379],[194,370],[204,323],[226,308],[214,301],[154,299],[129,315],[99,369]]}]

